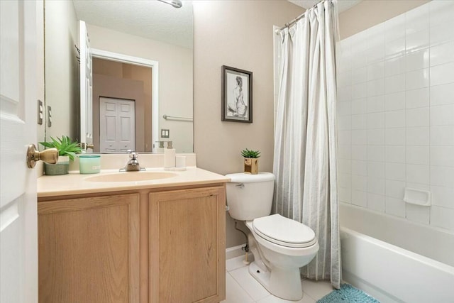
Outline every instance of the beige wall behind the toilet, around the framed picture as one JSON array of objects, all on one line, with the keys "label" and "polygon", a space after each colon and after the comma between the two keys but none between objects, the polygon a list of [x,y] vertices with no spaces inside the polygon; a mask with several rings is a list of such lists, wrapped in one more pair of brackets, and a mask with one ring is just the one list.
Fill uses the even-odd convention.
[{"label": "beige wall behind the toilet, around the framed picture", "polygon": [[[304,9],[288,1],[194,1],[194,151],[197,166],[243,171],[243,148],[262,151],[272,171],[273,26]],[[253,72],[253,123],[221,121],[221,66]],[[226,246],[245,243],[227,215]]]}]

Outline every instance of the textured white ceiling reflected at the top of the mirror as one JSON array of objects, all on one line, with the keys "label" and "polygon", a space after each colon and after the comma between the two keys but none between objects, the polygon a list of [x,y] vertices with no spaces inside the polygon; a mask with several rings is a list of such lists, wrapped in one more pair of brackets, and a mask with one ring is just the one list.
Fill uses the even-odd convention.
[{"label": "textured white ceiling reflected at the top of the mirror", "polygon": [[192,2],[175,9],[154,0],[72,0],[77,19],[114,31],[192,49]]}]

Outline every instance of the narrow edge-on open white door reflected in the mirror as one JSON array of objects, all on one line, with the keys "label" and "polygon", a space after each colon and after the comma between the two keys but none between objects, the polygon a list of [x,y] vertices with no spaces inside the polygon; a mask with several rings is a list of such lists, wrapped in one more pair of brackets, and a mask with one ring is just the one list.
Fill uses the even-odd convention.
[{"label": "narrow edge-on open white door reflected in the mirror", "polygon": [[80,142],[93,143],[92,51],[87,26],[79,21],[80,46]]}]

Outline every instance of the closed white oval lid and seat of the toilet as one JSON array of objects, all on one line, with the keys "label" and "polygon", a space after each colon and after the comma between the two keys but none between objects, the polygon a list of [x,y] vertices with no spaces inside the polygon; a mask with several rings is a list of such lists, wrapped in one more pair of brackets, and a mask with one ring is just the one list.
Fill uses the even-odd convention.
[{"label": "closed white oval lid and seat of the toilet", "polygon": [[282,246],[302,248],[316,243],[315,233],[309,226],[279,214],[254,219],[253,228],[258,236]]}]

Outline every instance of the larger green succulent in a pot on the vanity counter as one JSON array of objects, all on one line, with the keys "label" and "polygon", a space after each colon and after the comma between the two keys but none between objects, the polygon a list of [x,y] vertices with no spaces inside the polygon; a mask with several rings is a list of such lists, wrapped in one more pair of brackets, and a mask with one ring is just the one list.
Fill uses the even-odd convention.
[{"label": "larger green succulent in a pot on the vanity counter", "polygon": [[40,142],[45,148],[57,148],[58,162],[56,164],[44,163],[45,175],[66,175],[70,170],[70,160],[74,160],[76,153],[80,153],[82,148],[77,141],[72,141],[68,136],[62,138],[52,138],[51,142]]}]

